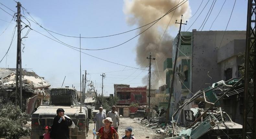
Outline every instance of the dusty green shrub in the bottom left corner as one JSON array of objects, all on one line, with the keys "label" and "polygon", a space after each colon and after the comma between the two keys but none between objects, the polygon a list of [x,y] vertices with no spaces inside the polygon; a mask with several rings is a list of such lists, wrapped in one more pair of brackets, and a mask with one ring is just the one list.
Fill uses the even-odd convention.
[{"label": "dusty green shrub in the bottom left corner", "polygon": [[0,137],[17,139],[30,134],[31,129],[25,127],[30,121],[30,115],[21,112],[18,106],[7,103],[0,106]]}]

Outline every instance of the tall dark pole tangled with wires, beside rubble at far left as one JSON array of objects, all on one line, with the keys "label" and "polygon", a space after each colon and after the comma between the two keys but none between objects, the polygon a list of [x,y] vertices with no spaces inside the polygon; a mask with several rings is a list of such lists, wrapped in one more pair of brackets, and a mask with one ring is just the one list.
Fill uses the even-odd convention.
[{"label": "tall dark pole tangled with wires, beside rubble at far left", "polygon": [[[16,61],[16,106],[18,101],[20,102],[20,109],[22,111],[22,77],[21,77],[21,20],[20,20],[20,2],[17,2],[17,61]],[[18,83],[19,83],[19,93],[18,93]],[[19,100],[18,100],[19,99]]]}]

